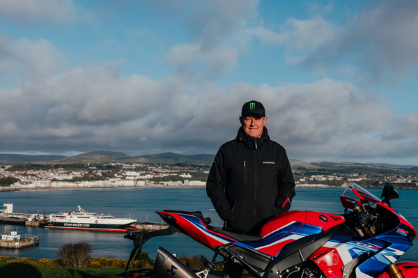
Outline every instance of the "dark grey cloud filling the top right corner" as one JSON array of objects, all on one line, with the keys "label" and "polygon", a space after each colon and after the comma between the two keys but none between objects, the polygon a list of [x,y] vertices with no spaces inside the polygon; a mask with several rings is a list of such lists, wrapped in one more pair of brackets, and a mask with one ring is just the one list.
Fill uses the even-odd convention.
[{"label": "dark grey cloud filling the top right corner", "polygon": [[399,84],[418,64],[417,12],[417,1],[376,1],[346,27],[341,52],[357,52],[373,81]]}]

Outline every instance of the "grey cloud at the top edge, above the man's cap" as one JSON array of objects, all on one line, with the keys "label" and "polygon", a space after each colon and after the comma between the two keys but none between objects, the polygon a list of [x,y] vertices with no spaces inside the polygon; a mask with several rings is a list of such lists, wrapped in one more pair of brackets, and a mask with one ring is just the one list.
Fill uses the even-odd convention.
[{"label": "grey cloud at the top edge, above the man's cap", "polygon": [[179,15],[185,20],[191,38],[173,45],[167,61],[183,76],[216,78],[227,75],[242,47],[237,41],[242,28],[256,19],[257,4],[256,0],[180,1],[176,11],[180,10]]}]

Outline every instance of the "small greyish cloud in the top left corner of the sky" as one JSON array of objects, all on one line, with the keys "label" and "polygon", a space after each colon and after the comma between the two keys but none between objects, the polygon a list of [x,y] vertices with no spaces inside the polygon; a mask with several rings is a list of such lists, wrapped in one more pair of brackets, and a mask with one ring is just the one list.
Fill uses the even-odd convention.
[{"label": "small greyish cloud in the top left corner of the sky", "polygon": [[0,14],[22,23],[33,20],[70,23],[75,20],[76,8],[72,0],[6,0],[0,1]]}]

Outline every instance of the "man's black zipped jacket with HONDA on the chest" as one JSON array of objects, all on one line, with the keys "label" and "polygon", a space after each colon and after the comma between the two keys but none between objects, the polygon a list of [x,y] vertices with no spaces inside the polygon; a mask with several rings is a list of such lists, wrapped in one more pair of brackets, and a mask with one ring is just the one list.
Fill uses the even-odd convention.
[{"label": "man's black zipped jacket with HONDA on the chest", "polygon": [[226,230],[258,235],[268,219],[291,208],[295,181],[286,150],[270,140],[263,129],[260,138],[237,138],[219,148],[210,169],[206,192]]}]

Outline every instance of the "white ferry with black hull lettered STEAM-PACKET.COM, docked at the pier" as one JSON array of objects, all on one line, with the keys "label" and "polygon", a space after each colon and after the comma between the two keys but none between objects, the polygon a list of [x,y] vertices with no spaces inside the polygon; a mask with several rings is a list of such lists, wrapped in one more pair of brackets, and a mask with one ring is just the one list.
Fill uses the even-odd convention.
[{"label": "white ferry with black hull lettered STEAM-PACKET.COM, docked at the pier", "polygon": [[113,217],[111,215],[98,215],[88,213],[81,206],[77,206],[77,212],[56,213],[49,215],[49,223],[45,228],[49,229],[79,229],[91,231],[127,231],[134,229],[130,225],[137,222],[136,219]]}]

